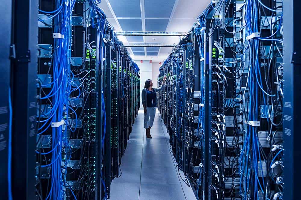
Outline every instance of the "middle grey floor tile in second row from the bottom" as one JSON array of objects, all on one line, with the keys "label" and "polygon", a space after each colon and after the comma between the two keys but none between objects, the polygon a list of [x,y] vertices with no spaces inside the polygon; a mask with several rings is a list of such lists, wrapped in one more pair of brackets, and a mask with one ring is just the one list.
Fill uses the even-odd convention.
[{"label": "middle grey floor tile in second row from the bottom", "polygon": [[175,166],[142,166],[141,183],[180,183]]}]

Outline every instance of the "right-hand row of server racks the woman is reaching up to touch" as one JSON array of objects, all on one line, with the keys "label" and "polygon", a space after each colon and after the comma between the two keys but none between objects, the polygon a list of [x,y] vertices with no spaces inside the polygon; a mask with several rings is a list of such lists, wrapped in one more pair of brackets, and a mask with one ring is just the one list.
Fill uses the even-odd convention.
[{"label": "right-hand row of server racks the woman is reaching up to touch", "polygon": [[284,113],[284,2],[212,1],[160,67],[159,111],[197,199],[298,199],[284,185],[299,155]]}]

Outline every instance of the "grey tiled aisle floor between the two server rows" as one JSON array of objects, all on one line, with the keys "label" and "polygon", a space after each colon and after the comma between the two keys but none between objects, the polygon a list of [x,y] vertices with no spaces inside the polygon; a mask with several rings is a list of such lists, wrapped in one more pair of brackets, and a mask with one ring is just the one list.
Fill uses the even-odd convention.
[{"label": "grey tiled aisle floor between the two server rows", "polygon": [[[144,114],[139,110],[121,159],[122,175],[111,184],[111,200],[195,200],[191,187],[183,183],[169,152],[169,135],[156,112],[151,128],[153,139],[145,136]],[[180,171],[182,177],[184,174]]]}]

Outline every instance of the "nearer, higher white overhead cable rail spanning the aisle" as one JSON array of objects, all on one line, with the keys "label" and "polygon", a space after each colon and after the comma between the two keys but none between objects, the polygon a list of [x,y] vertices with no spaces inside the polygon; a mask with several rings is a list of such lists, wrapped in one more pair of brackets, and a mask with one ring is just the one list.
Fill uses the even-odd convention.
[{"label": "nearer, higher white overhead cable rail spanning the aisle", "polygon": [[116,35],[123,36],[185,36],[187,32],[161,32],[161,31],[124,31],[116,32]]}]

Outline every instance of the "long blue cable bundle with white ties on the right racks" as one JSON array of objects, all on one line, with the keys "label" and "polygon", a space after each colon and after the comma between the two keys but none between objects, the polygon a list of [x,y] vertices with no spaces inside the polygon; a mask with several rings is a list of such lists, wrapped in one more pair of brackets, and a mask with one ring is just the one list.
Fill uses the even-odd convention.
[{"label": "long blue cable bundle with white ties on the right racks", "polygon": [[[249,36],[253,33],[260,32],[259,30],[259,4],[268,10],[272,10],[265,5],[262,4],[259,0],[248,0],[246,5],[246,36]],[[277,12],[277,11],[275,11]],[[259,64],[259,45],[260,40],[268,40],[268,41],[278,41],[278,39],[268,39],[272,38],[281,27],[282,16],[280,17],[280,24],[278,29],[272,35],[262,38],[262,37],[254,37],[251,38],[249,44],[247,45],[246,50],[249,50],[249,72],[247,79],[247,86],[249,86],[249,102],[248,102],[248,116],[247,122],[259,121],[259,108],[257,105],[260,105],[259,102],[259,94],[262,93],[264,104],[267,105],[266,97],[274,97],[275,94],[269,94],[269,92],[263,89],[262,84],[262,75],[260,72],[260,64]],[[244,53],[246,53],[246,50]],[[244,91],[245,95],[246,90]],[[245,97],[243,101],[245,100]],[[264,193],[265,188],[265,180],[263,176],[263,170],[261,165],[262,160],[262,152],[260,149],[260,142],[258,138],[258,128],[256,126],[247,125],[246,137],[244,140],[244,146],[240,154],[240,189],[243,191],[244,198],[257,199],[258,198],[258,190]],[[276,155],[277,156],[277,155]],[[276,157],[275,156],[275,157]],[[275,158],[274,157],[274,158]],[[259,180],[259,174],[262,177],[262,181]],[[250,194],[250,190],[252,187],[253,194]]]}]

